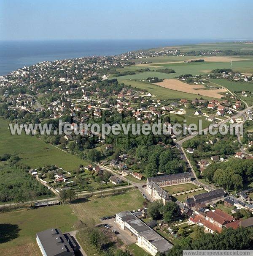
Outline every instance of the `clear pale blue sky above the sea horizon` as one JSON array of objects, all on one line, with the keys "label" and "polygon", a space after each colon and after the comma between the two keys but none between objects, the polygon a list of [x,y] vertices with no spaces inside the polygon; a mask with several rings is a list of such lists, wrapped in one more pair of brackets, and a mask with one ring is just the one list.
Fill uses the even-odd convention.
[{"label": "clear pale blue sky above the sea horizon", "polygon": [[0,0],[0,40],[253,39],[252,0]]}]

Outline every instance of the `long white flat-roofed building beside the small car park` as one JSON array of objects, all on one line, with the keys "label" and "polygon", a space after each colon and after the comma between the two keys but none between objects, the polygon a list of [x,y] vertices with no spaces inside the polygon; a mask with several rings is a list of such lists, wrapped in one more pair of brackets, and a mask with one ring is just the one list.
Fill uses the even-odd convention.
[{"label": "long white flat-roofed building beside the small car park", "polygon": [[117,213],[116,223],[134,234],[137,237],[137,245],[153,256],[157,252],[165,253],[172,248],[170,242],[129,211]]}]

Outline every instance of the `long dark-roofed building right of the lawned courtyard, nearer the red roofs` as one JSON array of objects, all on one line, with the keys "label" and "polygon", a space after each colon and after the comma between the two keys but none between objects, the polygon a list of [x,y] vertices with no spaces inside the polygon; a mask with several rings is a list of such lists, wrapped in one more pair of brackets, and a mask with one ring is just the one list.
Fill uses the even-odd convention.
[{"label": "long dark-roofed building right of the lawned courtyard, nearer the red roofs", "polygon": [[225,196],[225,193],[222,188],[202,193],[199,195],[194,195],[193,197],[186,199],[186,206],[187,207],[194,207],[195,204],[206,204],[210,203],[212,201],[216,201],[218,199],[221,199]]}]

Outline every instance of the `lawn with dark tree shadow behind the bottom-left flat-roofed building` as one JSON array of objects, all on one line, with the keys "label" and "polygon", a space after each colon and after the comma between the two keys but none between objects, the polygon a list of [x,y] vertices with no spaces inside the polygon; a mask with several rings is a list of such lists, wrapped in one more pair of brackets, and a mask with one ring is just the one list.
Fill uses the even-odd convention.
[{"label": "lawn with dark tree shadow behind the bottom-left flat-roofed building", "polygon": [[76,221],[77,217],[69,205],[1,213],[0,255],[3,255],[2,248],[35,242],[36,233],[45,229],[57,226],[63,232],[71,231]]}]

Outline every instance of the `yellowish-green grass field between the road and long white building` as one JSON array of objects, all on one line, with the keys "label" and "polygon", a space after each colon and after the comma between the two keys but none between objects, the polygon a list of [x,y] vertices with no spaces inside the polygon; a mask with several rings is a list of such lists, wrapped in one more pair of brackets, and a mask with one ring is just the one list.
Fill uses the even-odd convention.
[{"label": "yellowish-green grass field between the road and long white building", "polygon": [[81,220],[92,220],[100,223],[100,218],[117,212],[136,210],[143,206],[144,198],[139,190],[129,190],[119,195],[104,198],[92,198],[87,201],[71,204],[75,215]]}]

